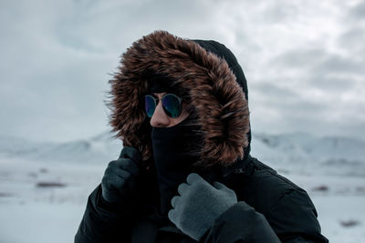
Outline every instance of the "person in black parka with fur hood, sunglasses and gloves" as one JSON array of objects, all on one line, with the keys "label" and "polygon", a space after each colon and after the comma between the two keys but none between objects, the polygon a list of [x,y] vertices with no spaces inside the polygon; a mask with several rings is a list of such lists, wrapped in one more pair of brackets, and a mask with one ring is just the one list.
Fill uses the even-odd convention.
[{"label": "person in black parka with fur hood, sunglasses and gloves", "polygon": [[250,156],[245,75],[223,44],[155,31],[110,86],[123,148],[75,242],[328,242],[307,192]]}]

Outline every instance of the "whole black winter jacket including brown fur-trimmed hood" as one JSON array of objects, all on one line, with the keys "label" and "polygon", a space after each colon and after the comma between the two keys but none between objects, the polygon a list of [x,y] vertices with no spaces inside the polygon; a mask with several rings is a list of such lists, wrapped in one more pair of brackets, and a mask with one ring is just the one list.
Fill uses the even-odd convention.
[{"label": "whole black winter jacket including brown fur-trimmed hood", "polygon": [[247,86],[235,56],[214,41],[157,31],[127,50],[120,72],[110,80],[110,125],[124,146],[142,153],[141,190],[116,207],[97,187],[89,196],[76,243],[196,242],[155,213],[159,188],[151,163],[151,126],[141,108],[151,74],[167,75],[187,92],[205,136],[202,163],[218,167],[215,180],[233,189],[238,199],[199,242],[328,242],[307,192],[250,156]]}]

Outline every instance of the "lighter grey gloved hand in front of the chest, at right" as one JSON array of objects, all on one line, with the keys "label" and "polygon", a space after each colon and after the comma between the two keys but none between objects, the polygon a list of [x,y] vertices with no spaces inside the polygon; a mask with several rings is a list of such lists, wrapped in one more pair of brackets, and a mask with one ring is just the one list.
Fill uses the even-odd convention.
[{"label": "lighter grey gloved hand in front of the chest, at right", "polygon": [[237,202],[237,197],[222,183],[215,181],[212,186],[195,173],[186,181],[178,187],[181,196],[172,197],[168,217],[183,233],[199,240],[214,220]]}]

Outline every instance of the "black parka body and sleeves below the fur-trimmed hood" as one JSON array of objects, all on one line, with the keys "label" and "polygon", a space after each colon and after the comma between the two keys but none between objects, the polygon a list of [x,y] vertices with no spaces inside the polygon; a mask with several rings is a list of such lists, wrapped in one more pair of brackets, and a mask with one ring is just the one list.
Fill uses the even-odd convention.
[{"label": "black parka body and sleeves below the fur-trimmed hood", "polygon": [[[97,187],[89,196],[75,242],[196,242],[172,224],[161,226],[149,217],[158,195],[153,172],[149,173],[140,181],[146,190],[120,208],[110,208]],[[214,221],[200,242],[328,242],[307,192],[271,167],[247,157],[235,167],[225,167],[222,174],[238,202]]]}]

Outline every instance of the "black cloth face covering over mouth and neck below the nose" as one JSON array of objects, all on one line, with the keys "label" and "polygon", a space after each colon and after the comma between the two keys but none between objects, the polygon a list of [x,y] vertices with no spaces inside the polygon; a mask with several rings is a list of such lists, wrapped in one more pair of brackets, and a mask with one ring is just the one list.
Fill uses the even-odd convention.
[{"label": "black cloth face covering over mouth and neck below the nose", "polygon": [[195,152],[201,144],[200,136],[187,126],[189,119],[173,127],[152,127],[151,141],[157,181],[160,189],[161,213],[167,215],[177,187],[186,177],[196,172],[193,164],[199,155]]}]

